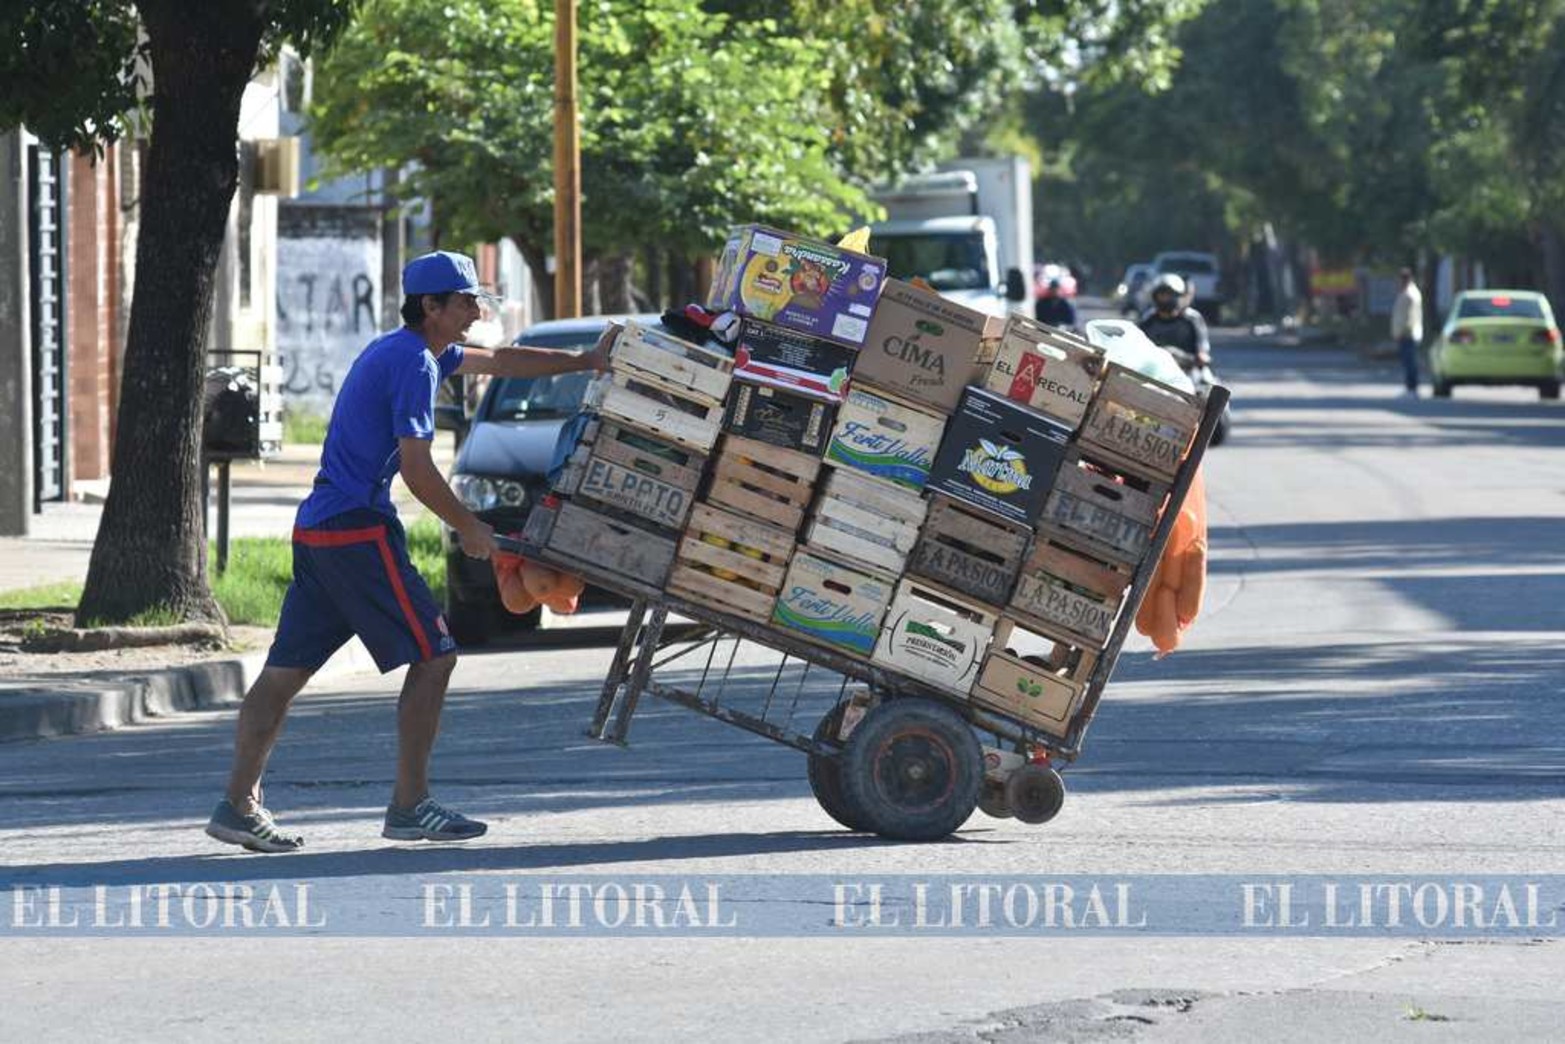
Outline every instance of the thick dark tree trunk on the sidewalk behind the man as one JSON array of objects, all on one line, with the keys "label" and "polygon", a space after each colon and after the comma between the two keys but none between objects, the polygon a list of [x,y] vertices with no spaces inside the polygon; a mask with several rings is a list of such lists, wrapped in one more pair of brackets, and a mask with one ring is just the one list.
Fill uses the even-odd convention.
[{"label": "thick dark tree trunk on the sidewalk behind the man", "polygon": [[152,142],[113,484],[78,625],[149,610],[222,620],[207,585],[202,379],[213,274],[238,183],[239,99],[264,5],[138,0],[138,8],[152,53]]}]

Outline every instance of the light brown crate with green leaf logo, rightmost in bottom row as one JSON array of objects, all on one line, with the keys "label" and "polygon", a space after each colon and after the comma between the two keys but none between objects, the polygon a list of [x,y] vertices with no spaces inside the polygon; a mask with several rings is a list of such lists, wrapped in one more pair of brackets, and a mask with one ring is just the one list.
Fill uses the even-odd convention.
[{"label": "light brown crate with green leaf logo, rightmost in bottom row", "polygon": [[1002,615],[995,625],[989,654],[978,668],[972,687],[972,701],[1006,714],[1024,725],[1064,737],[1070,718],[1081,706],[1097,654],[1092,651],[1052,643],[1044,637],[1038,654],[1025,653],[1014,632],[1031,632],[1027,621]]}]

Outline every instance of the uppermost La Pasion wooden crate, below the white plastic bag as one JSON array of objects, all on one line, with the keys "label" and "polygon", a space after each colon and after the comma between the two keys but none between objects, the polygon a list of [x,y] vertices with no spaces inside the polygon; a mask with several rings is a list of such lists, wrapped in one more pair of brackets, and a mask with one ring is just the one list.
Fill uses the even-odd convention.
[{"label": "uppermost La Pasion wooden crate, below the white plastic bag", "polygon": [[1172,481],[1199,426],[1197,396],[1111,363],[1080,438],[1085,452]]}]

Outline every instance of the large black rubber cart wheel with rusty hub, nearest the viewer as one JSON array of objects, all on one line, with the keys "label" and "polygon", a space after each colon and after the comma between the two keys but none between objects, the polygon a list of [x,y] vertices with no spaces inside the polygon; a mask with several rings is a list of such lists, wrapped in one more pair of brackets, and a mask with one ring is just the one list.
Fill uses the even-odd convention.
[{"label": "large black rubber cart wheel with rusty hub, nearest the viewer", "polygon": [[894,841],[945,837],[973,814],[983,748],[959,714],[933,700],[887,700],[842,751],[842,794],[869,830]]}]

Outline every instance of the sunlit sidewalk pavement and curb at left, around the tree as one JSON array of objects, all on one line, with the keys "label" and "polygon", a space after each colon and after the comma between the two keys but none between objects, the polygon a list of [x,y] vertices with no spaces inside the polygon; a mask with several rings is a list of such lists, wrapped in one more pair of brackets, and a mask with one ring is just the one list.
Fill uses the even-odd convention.
[{"label": "sunlit sidewalk pavement and curb at left, around the tree", "polygon": [[[319,446],[283,448],[272,460],[235,463],[232,471],[230,534],[233,537],[286,537],[294,510],[310,491],[319,463]],[[455,457],[451,437],[435,438],[434,457],[449,474]],[[83,582],[92,556],[92,540],[103,512],[102,493],[91,488],[86,501],[45,504],[27,537],[0,537],[0,592],[61,582]],[[95,495],[95,496],[94,496]],[[216,496],[216,476],[213,476]],[[410,517],[421,510],[401,482],[393,499]],[[216,531],[216,510],[208,506],[208,532]],[[188,656],[172,659],[189,659]],[[247,653],[214,653],[210,659],[178,667],[124,673],[81,670],[22,676],[0,668],[0,743],[9,740],[70,736],[119,728],[152,717],[238,703],[264,664],[264,648]],[[316,675],[340,676],[374,670],[374,662],[355,639]]]}]

